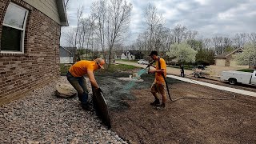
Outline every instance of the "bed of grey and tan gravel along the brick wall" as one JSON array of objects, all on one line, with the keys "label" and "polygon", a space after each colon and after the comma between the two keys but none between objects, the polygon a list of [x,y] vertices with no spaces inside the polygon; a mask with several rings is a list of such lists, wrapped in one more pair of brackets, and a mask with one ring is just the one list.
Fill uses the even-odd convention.
[{"label": "bed of grey and tan gravel along the brick wall", "polygon": [[0,107],[1,143],[127,143],[95,113],[82,110],[77,96],[57,98],[58,82],[68,83],[61,77]]}]

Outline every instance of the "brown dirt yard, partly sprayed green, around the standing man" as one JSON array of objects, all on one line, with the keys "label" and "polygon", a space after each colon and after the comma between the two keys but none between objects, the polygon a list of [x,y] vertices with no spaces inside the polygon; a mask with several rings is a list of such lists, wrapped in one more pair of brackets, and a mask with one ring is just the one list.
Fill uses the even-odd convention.
[{"label": "brown dirt yard, partly sprayed green, around the standing man", "polygon": [[[256,98],[167,79],[172,99],[150,106],[154,75],[127,82],[134,71],[99,73],[96,78],[110,110],[112,130],[130,143],[256,143]],[[200,98],[232,98],[211,100]]]}]

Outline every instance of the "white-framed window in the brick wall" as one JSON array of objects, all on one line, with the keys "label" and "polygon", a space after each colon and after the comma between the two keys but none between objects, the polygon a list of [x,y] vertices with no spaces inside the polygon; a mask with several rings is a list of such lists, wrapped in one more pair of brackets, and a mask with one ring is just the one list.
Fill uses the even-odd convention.
[{"label": "white-framed window in the brick wall", "polygon": [[28,10],[12,2],[2,23],[1,53],[24,53],[24,37]]}]

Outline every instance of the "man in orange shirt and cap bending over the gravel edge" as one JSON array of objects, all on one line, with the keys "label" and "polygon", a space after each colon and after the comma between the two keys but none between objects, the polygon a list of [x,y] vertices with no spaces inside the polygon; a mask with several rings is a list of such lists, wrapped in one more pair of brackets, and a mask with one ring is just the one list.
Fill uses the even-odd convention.
[{"label": "man in orange shirt and cap bending over the gravel edge", "polygon": [[78,91],[78,98],[82,103],[82,108],[85,110],[92,110],[92,106],[88,104],[88,90],[86,87],[86,79],[84,75],[90,79],[90,83],[96,89],[102,91],[98,83],[94,78],[94,71],[98,69],[104,69],[103,65],[105,61],[102,58],[96,58],[94,61],[79,61],[70,67],[70,70],[66,74],[67,80]]}]

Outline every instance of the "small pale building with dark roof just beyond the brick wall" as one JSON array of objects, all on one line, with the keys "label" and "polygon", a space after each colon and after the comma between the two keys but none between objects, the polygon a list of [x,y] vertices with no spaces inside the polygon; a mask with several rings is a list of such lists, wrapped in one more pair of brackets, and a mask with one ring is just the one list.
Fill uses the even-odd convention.
[{"label": "small pale building with dark roof just beyond the brick wall", "polygon": [[59,46],[60,63],[74,63],[76,50],[76,47]]}]

